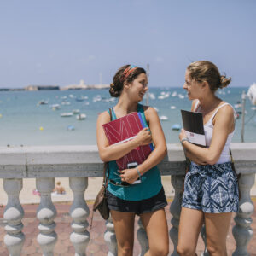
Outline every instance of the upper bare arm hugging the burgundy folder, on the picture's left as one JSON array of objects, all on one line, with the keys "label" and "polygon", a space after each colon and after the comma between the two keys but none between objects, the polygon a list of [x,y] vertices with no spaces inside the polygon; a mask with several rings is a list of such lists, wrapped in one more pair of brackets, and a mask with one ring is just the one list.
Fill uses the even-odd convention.
[{"label": "upper bare arm hugging the burgundy folder, on the picture's left", "polygon": [[137,137],[132,139],[127,143],[121,143],[118,145],[108,145],[108,139],[105,135],[103,126],[104,124],[110,122],[110,116],[108,112],[104,112],[99,115],[97,119],[97,145],[99,149],[99,154],[104,162],[111,160],[117,160],[123,157],[125,154],[131,152],[132,149],[138,146],[151,143],[150,132],[147,128],[143,129],[137,134]]}]

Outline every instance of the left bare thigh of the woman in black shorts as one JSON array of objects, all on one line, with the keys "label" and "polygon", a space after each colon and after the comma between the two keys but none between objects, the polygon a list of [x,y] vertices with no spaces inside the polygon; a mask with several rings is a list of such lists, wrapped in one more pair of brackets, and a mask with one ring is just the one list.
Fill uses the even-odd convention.
[{"label": "left bare thigh of the woman in black shorts", "polygon": [[132,247],[134,241],[135,213],[114,210],[110,210],[110,212],[119,247]]}]

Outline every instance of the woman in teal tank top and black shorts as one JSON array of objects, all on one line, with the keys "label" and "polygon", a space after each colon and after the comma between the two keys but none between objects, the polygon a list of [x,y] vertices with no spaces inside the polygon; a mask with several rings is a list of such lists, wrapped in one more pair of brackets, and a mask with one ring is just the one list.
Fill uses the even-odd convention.
[{"label": "woman in teal tank top and black shorts", "polygon": [[[108,162],[108,207],[113,219],[119,256],[132,255],[136,214],[140,216],[148,235],[149,250],[145,256],[164,256],[169,249],[164,209],[167,204],[166,196],[156,166],[166,155],[166,140],[154,108],[139,104],[147,90],[145,70],[125,65],[114,75],[109,92],[111,96],[119,97],[119,102],[111,109],[113,119],[140,112],[150,131],[144,128],[131,141],[109,146],[102,125],[111,120],[110,113],[102,113],[97,120],[99,154],[104,162]],[[154,150],[147,160],[136,168],[118,170],[115,160],[132,149],[149,143],[154,143]],[[142,183],[132,184],[138,177],[141,177]]]}]

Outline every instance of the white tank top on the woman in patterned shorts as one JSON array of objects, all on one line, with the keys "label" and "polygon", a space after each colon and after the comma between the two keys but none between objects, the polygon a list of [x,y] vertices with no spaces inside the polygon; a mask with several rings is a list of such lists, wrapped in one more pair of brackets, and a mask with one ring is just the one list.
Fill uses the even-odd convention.
[{"label": "white tank top on the woman in patterned shorts", "polygon": [[[198,105],[199,105],[199,101],[195,102],[195,108],[194,111],[198,112]],[[229,103],[225,102],[224,104],[220,105],[215,112],[212,114],[212,117],[208,120],[207,124],[204,125],[204,131],[205,131],[205,136],[206,136],[206,144],[207,144],[207,148],[210,147],[210,144],[212,142],[212,131],[213,131],[213,124],[212,124],[212,119],[214,118],[215,114],[218,112],[219,108],[222,108],[226,105],[230,105]],[[230,105],[231,106],[231,105]],[[232,106],[231,106],[232,107]],[[233,108],[233,107],[232,107]],[[220,154],[220,157],[217,161],[216,164],[223,164],[225,162],[229,162],[230,161],[230,143],[232,140],[232,137],[234,135],[235,129],[234,131],[232,131],[228,137],[227,137],[227,141],[224,145],[224,148]]]}]

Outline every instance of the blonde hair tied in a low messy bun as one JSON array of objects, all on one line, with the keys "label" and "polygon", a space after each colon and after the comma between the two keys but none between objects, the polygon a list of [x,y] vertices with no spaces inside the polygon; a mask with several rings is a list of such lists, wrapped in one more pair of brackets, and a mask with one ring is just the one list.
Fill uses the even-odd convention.
[{"label": "blonde hair tied in a low messy bun", "polygon": [[225,74],[220,75],[218,67],[210,61],[195,61],[187,69],[191,79],[201,82],[207,81],[212,92],[228,86],[231,82],[231,78],[227,78]]}]

